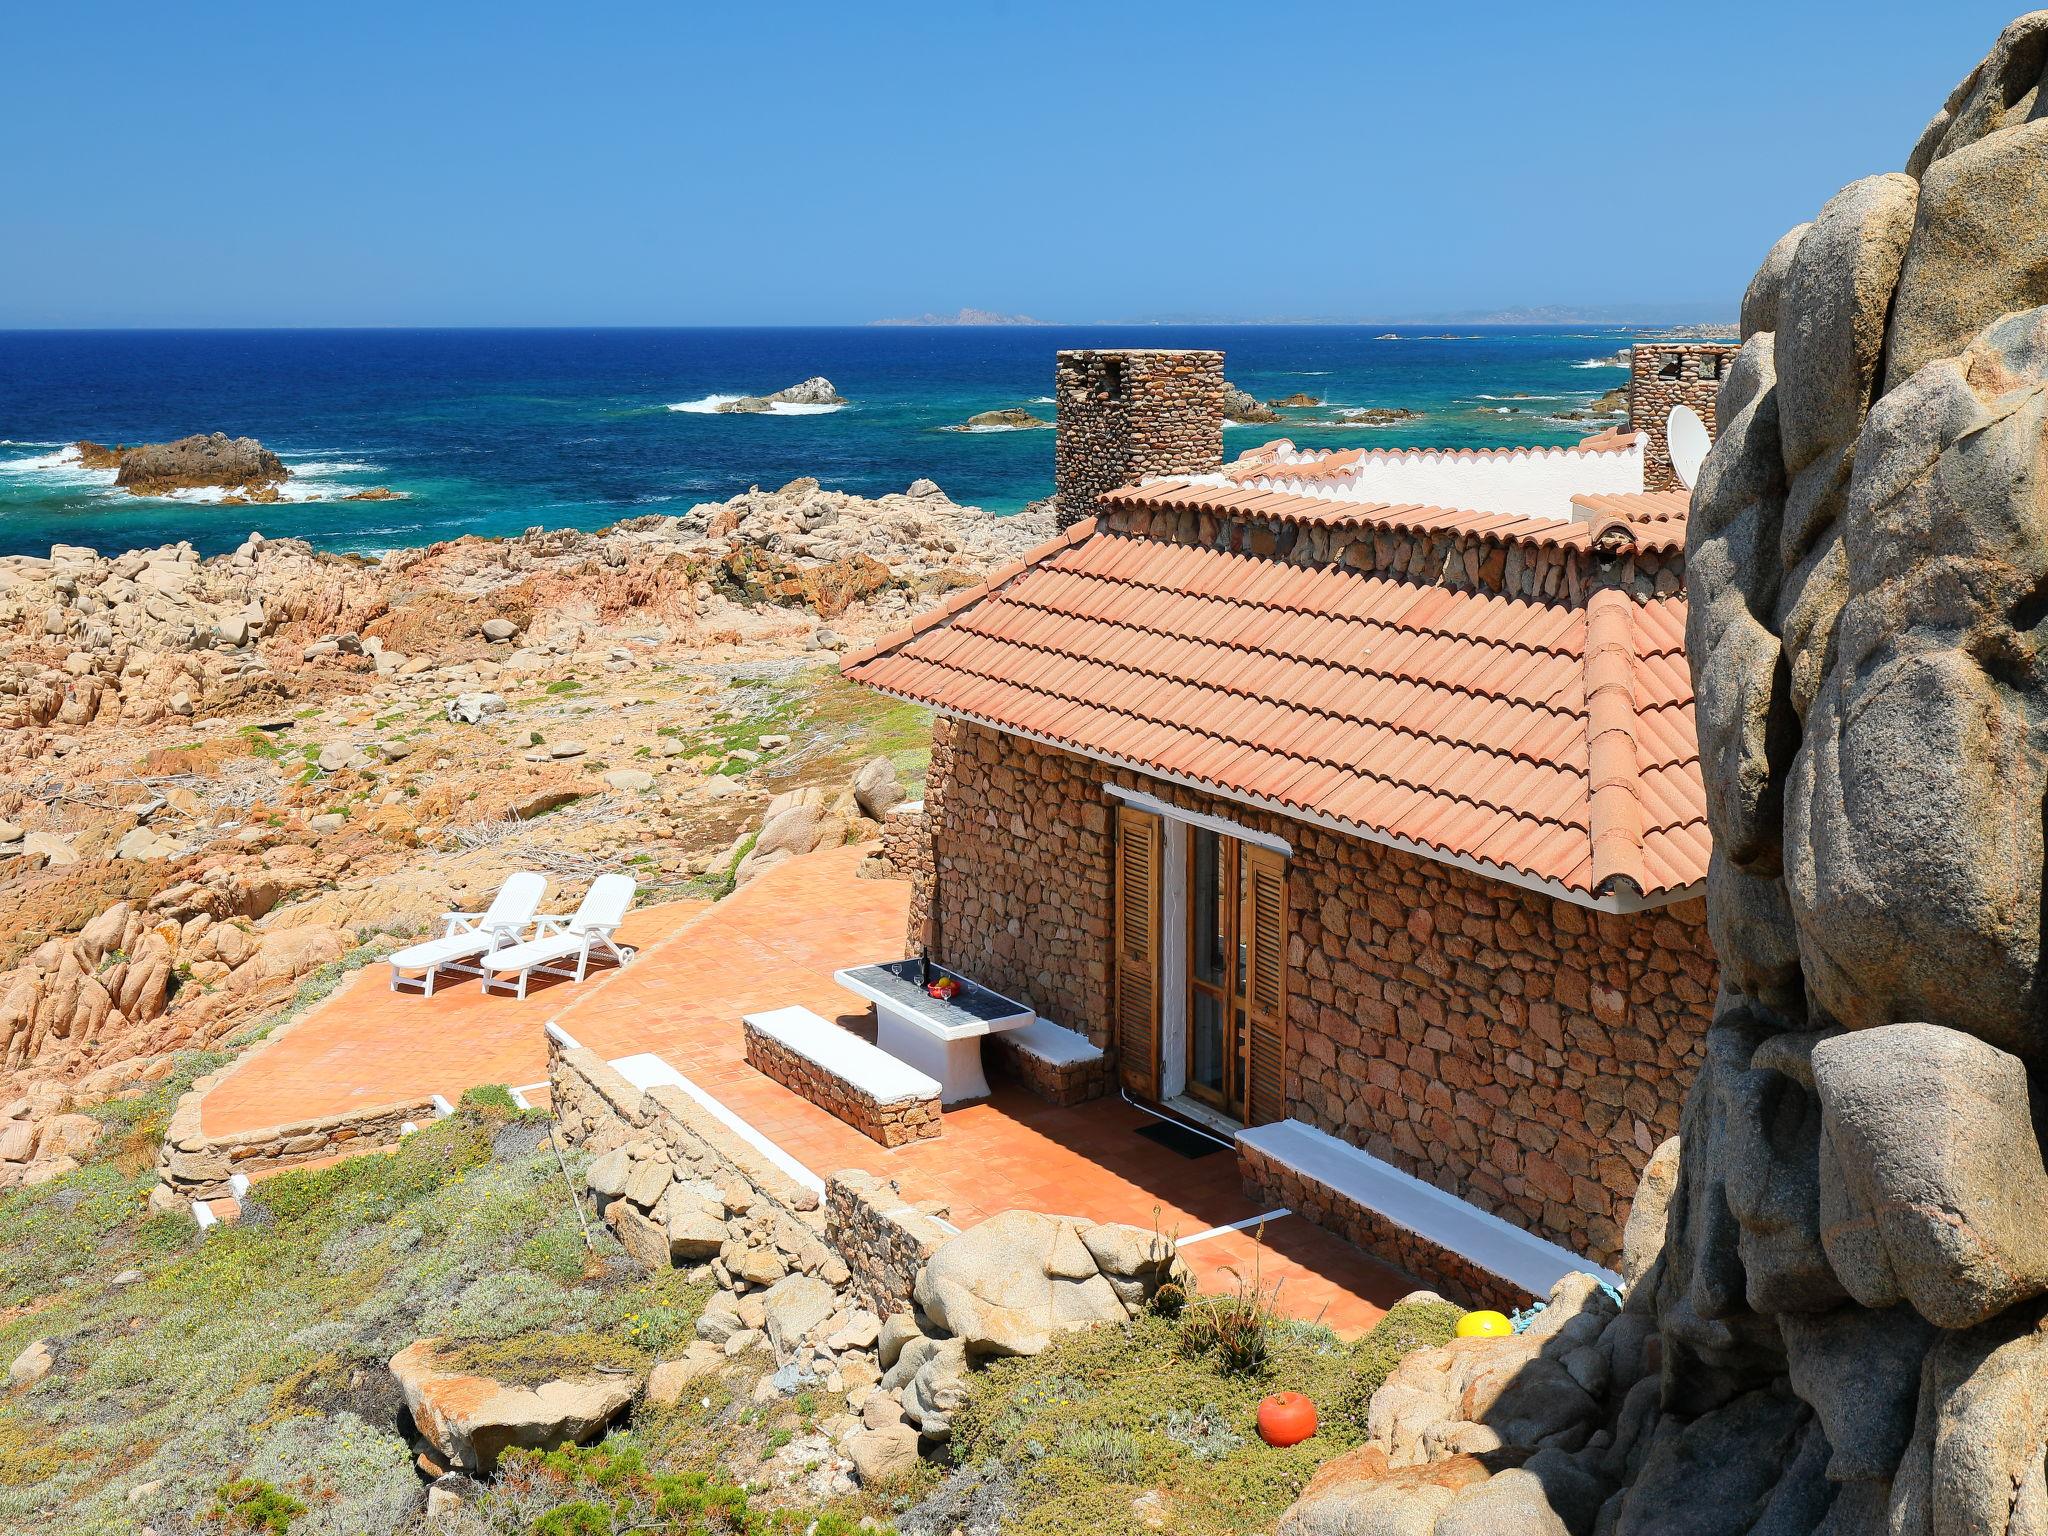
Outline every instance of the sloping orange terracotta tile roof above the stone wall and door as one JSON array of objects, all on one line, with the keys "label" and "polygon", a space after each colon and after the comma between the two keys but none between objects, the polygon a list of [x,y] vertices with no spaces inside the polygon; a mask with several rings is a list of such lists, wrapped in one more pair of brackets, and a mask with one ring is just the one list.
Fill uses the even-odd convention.
[{"label": "sloping orange terracotta tile roof above the stone wall and door", "polygon": [[1683,641],[1677,596],[1530,602],[1081,522],[844,670],[1581,899],[1661,897],[1708,854]]}]

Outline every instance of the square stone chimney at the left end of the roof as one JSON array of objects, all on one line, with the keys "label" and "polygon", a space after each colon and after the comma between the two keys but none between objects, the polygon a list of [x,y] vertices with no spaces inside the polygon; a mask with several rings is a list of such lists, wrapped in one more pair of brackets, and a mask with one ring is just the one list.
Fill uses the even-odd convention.
[{"label": "square stone chimney at the left end of the roof", "polygon": [[1092,516],[1102,492],[1145,475],[1223,467],[1223,352],[1061,352],[1053,397],[1053,492],[1063,528]]}]

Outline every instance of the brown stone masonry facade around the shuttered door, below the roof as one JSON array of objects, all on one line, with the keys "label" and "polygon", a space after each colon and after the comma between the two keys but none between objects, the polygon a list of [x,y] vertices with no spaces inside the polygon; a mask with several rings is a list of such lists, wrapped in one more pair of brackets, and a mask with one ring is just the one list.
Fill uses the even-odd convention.
[{"label": "brown stone masonry facade around the shuttered door, below the roof", "polygon": [[1712,1014],[1702,901],[1599,913],[967,723],[930,782],[934,958],[1104,1049],[1108,786],[1288,840],[1288,1114],[1616,1262]]}]

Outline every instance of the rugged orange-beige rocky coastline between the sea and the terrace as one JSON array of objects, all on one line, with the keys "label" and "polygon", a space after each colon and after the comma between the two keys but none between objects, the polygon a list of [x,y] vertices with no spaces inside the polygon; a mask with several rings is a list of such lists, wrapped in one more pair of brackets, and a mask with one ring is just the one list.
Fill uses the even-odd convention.
[{"label": "rugged orange-beige rocky coastline between the sea and the terrace", "polygon": [[788,748],[776,711],[1051,530],[799,479],[383,559],[0,559],[0,1188],[63,1171],[74,1102],[487,895],[506,836],[729,883],[776,795],[872,756],[852,725]]}]

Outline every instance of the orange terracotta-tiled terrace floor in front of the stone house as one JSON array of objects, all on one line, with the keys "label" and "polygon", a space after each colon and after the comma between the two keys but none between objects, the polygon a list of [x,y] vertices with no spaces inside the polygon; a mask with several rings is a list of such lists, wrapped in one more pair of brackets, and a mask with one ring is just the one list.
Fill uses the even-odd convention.
[{"label": "orange terracotta-tiled terrace floor in front of the stone house", "polygon": [[864,854],[788,860],[709,909],[637,913],[645,948],[629,969],[535,989],[524,1004],[481,997],[475,983],[391,993],[385,969],[367,969],[215,1087],[203,1124],[227,1135],[424,1092],[455,1100],[485,1081],[535,1083],[545,1077],[541,1026],[553,1020],[606,1059],[659,1055],[811,1171],[897,1180],[905,1198],[942,1202],[958,1227],[1014,1206],[1157,1223],[1184,1239],[1202,1290],[1255,1270],[1268,1290],[1280,1286],[1280,1311],[1348,1335],[1413,1288],[1303,1217],[1260,1223],[1268,1212],[1243,1196],[1227,1147],[1171,1151],[1141,1137],[1155,1118],[1118,1098],[1057,1108],[997,1079],[993,1098],[948,1110],[936,1141],[889,1151],[750,1067],[739,1030],[750,1012],[795,1004],[870,1032],[872,1018],[831,973],[901,956],[909,885],[858,879]]}]

